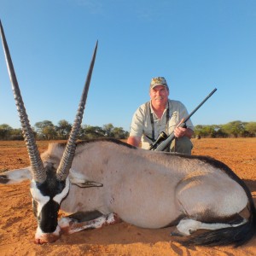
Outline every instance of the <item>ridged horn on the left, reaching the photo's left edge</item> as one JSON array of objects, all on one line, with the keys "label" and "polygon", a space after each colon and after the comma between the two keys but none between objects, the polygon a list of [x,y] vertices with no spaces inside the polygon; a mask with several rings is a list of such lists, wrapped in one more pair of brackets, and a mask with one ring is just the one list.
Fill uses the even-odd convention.
[{"label": "ridged horn on the left, reaching the photo's left edge", "polygon": [[44,183],[46,179],[46,172],[44,170],[43,161],[40,158],[40,154],[35,141],[35,137],[33,135],[31,125],[29,124],[29,120],[26,114],[26,108],[22,101],[19,84],[15,75],[15,68],[13,66],[11,56],[9,54],[9,47],[3,32],[3,26],[2,26],[1,20],[0,20],[0,31],[1,31],[1,37],[3,42],[4,55],[5,55],[8,71],[9,71],[9,79],[11,81],[12,89],[14,91],[15,103],[17,106],[18,113],[20,115],[22,133],[23,133],[24,140],[26,142],[26,149],[30,158],[31,166],[32,166],[32,176],[36,182]]}]

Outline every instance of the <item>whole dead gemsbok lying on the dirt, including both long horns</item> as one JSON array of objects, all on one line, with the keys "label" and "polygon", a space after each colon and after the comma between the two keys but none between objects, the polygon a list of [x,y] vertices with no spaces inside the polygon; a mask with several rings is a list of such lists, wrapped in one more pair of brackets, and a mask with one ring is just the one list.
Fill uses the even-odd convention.
[{"label": "whole dead gemsbok lying on the dirt, including both long horns", "polygon": [[[35,242],[99,228],[120,219],[138,227],[176,225],[172,236],[185,244],[239,246],[256,230],[256,210],[245,183],[224,163],[205,156],[134,148],[113,139],[76,143],[90,85],[96,48],[79,110],[67,143],[52,143],[40,156],[1,26],[3,49],[31,161],[4,172],[0,183],[31,179],[32,208],[38,220]],[[58,220],[59,209],[72,213]],[[205,230],[196,232],[196,230]]]}]

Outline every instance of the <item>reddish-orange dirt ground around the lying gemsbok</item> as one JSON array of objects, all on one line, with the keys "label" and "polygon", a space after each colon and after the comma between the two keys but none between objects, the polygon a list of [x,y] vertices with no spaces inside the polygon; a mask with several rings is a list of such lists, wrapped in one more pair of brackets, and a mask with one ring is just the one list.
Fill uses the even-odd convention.
[{"label": "reddish-orange dirt ground around the lying gemsbok", "polygon": [[[256,203],[256,138],[194,140],[193,154],[209,155],[241,177]],[[38,142],[41,152],[46,142]],[[23,142],[0,142],[0,172],[28,166]],[[36,245],[29,182],[0,185],[0,255],[256,255],[256,236],[234,247],[183,247],[170,236],[173,228],[140,229],[120,223],[84,230],[52,244]]]}]

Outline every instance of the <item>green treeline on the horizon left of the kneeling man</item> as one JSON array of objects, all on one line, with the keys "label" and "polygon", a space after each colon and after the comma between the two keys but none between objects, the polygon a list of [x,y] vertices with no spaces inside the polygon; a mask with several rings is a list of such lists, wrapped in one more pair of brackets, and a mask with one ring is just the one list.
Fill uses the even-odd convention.
[{"label": "green treeline on the horizon left of the kneeling man", "polygon": [[[36,123],[32,130],[37,140],[66,140],[72,129],[67,120],[62,119],[58,125],[49,120]],[[79,139],[96,137],[114,137],[125,139],[129,136],[128,131],[122,127],[114,127],[112,124],[100,126],[82,125],[79,132]],[[0,125],[0,140],[23,140],[21,129],[13,129],[11,126]]]}]

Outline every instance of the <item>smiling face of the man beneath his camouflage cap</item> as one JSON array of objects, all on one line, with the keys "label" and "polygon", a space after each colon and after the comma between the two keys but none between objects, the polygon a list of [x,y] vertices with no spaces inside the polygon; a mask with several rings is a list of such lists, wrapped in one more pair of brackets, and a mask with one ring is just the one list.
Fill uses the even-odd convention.
[{"label": "smiling face of the man beneath his camouflage cap", "polygon": [[169,91],[165,86],[157,85],[153,89],[150,89],[149,96],[153,107],[166,107]]}]

